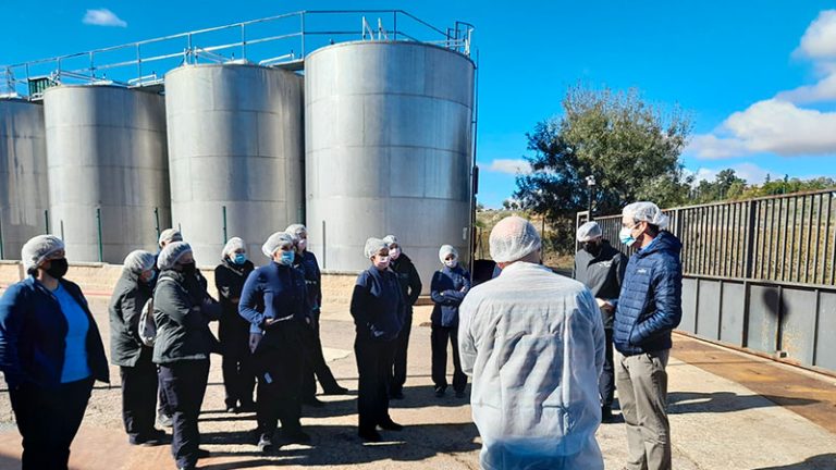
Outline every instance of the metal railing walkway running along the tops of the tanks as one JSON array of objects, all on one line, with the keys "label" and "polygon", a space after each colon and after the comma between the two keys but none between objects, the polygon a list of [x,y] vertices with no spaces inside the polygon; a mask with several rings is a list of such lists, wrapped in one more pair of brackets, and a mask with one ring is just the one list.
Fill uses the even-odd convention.
[{"label": "metal railing walkway running along the tops of the tanks", "polygon": [[[342,17],[346,15],[359,14],[380,15],[378,17],[377,35],[365,18],[360,30],[331,27],[333,24],[341,24],[340,22],[345,23]],[[329,17],[331,25],[329,27],[312,27],[311,20],[322,16]],[[384,18],[389,17],[391,17],[392,24],[391,29],[388,30],[383,27],[383,23]],[[297,22],[287,24],[287,22],[292,22],[294,18]],[[285,23],[280,24],[280,22]],[[416,26],[417,29],[420,29],[419,34],[407,33],[406,29],[408,27]],[[258,57],[259,53],[265,54],[267,52],[269,55],[265,55],[269,58],[271,55],[274,57],[276,50],[266,51],[262,48],[256,52],[255,50],[258,49],[254,50],[254,46],[291,41],[292,47],[287,49],[292,51],[299,50],[300,54],[298,57],[304,60],[309,50],[316,49],[316,47],[311,48],[311,40],[323,36],[330,36],[331,42],[334,41],[334,38],[341,37],[374,39],[376,36],[377,40],[409,40],[439,45],[469,55],[471,32],[472,25],[463,22],[456,22],[455,27],[444,32],[403,10],[298,11],[86,52],[0,66],[0,71],[2,71],[2,76],[0,76],[0,95],[38,98],[41,95],[41,90],[35,86],[33,88],[36,91],[32,91],[29,86],[40,78],[50,76],[72,77],[81,81],[85,81],[82,77],[86,76],[86,83],[109,79],[115,84],[123,85],[136,84],[135,86],[143,86],[156,84],[158,81],[144,81],[142,78],[149,76],[149,71],[151,74],[162,77],[165,72],[183,63],[188,63],[186,60],[189,59],[189,53],[196,50],[196,48],[199,48],[201,52],[214,52],[221,57],[232,55],[233,58],[224,60],[244,59],[258,62],[259,59],[265,59],[263,57]],[[218,38],[217,36],[221,34],[228,36],[224,39]],[[209,37],[210,35],[214,37]],[[319,41],[317,41],[317,46],[321,46]],[[204,55],[201,54],[201,57]],[[194,54],[190,58],[196,59]],[[220,58],[216,59],[220,60]]]}]

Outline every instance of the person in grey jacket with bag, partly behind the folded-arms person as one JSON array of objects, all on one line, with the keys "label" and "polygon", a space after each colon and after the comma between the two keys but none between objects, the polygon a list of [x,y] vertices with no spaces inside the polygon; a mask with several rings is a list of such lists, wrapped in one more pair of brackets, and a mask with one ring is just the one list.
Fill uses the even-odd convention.
[{"label": "person in grey jacket with bag, partly behind the folded-arms person", "polygon": [[122,422],[131,444],[156,445],[165,432],[153,428],[157,366],[153,348],[139,337],[139,316],[153,295],[155,255],[135,250],[125,258],[110,298],[110,361],[122,379]]}]

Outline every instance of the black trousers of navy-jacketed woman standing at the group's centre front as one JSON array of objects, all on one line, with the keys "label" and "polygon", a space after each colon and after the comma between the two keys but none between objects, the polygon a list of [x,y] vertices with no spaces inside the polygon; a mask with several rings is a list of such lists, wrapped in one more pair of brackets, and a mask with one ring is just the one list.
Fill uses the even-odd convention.
[{"label": "black trousers of navy-jacketed woman standing at the group's centre front", "polygon": [[395,358],[396,341],[357,339],[354,354],[360,389],[357,397],[360,432],[373,431],[378,424],[392,421],[389,416],[389,380]]}]

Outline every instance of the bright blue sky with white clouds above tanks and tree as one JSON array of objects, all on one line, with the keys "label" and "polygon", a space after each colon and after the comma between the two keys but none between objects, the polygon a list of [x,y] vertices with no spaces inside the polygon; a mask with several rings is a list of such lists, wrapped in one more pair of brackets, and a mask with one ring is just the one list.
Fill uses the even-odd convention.
[{"label": "bright blue sky with white clouds above tanks and tree", "polygon": [[[0,64],[297,10],[404,9],[468,21],[479,51],[479,199],[497,207],[528,154],[525,133],[568,86],[636,87],[690,112],[686,168],[750,182],[836,177],[836,7],[831,1],[41,1],[0,0]],[[109,10],[88,13],[88,10]],[[85,22],[86,20],[86,22]],[[384,20],[385,21],[385,20]],[[94,23],[94,24],[90,24]],[[109,26],[95,23],[110,24]]]}]

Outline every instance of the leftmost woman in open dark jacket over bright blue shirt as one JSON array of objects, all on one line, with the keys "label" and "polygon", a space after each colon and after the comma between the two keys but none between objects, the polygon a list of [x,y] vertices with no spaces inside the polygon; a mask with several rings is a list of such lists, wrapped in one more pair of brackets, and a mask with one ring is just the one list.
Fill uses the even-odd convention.
[{"label": "leftmost woman in open dark jacket over bright blue shirt", "polygon": [[108,359],[82,289],[64,279],[64,243],[36,236],[21,259],[28,276],[0,298],[0,370],[23,469],[66,469],[93,383],[109,382]]}]

